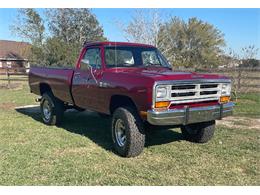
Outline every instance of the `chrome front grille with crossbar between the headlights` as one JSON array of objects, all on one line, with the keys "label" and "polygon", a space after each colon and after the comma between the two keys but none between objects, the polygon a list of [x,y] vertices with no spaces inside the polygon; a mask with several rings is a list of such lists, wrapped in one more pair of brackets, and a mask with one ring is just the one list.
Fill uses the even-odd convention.
[{"label": "chrome front grille with crossbar between the headlights", "polygon": [[178,104],[218,100],[220,89],[220,83],[173,84],[171,86],[171,101]]}]

